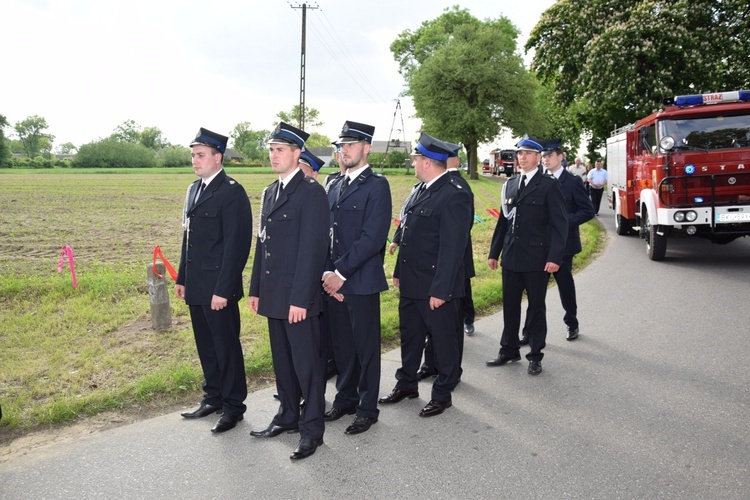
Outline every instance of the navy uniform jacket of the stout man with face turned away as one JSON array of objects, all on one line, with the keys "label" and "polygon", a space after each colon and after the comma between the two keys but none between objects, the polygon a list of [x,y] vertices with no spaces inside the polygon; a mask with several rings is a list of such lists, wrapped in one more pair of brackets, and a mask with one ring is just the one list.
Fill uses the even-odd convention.
[{"label": "navy uniform jacket of the stout man with face turned away", "polygon": [[469,193],[450,174],[411,203],[393,271],[402,297],[449,301],[464,296],[470,211]]}]

